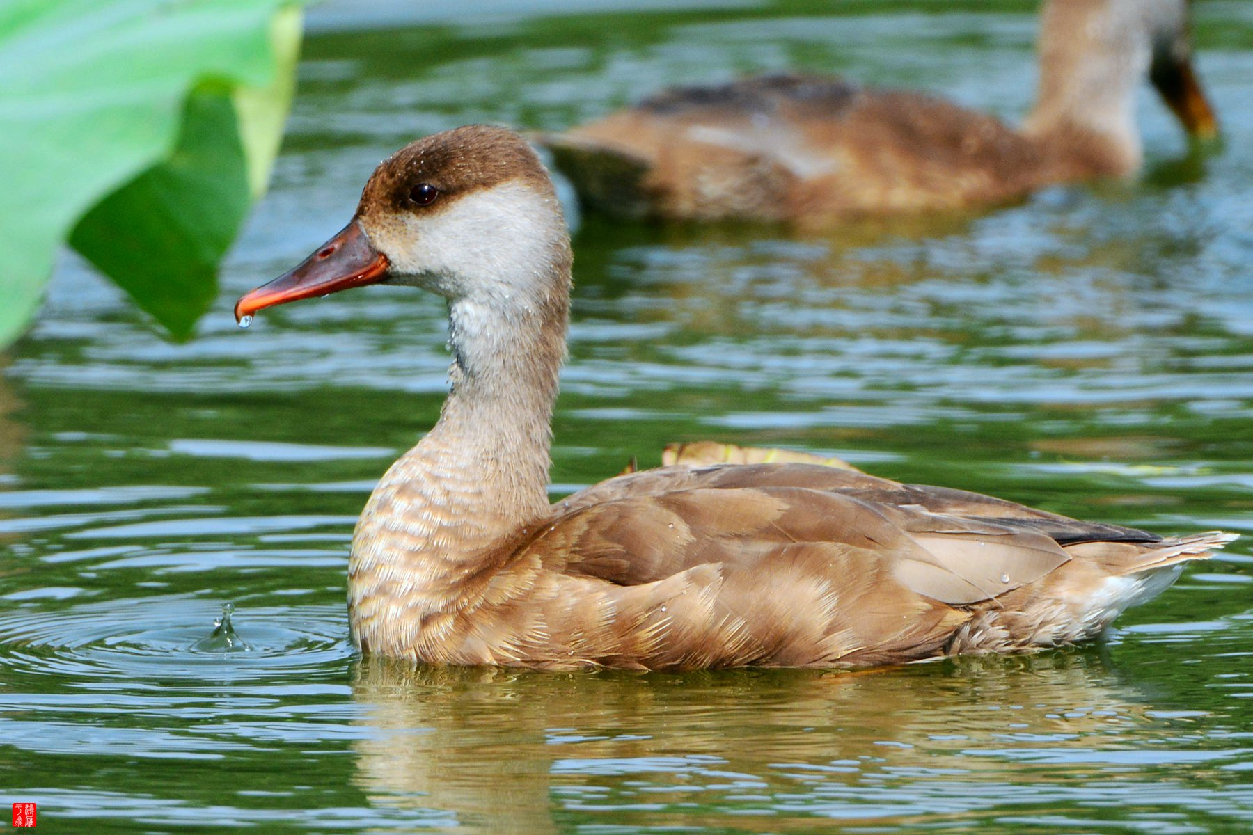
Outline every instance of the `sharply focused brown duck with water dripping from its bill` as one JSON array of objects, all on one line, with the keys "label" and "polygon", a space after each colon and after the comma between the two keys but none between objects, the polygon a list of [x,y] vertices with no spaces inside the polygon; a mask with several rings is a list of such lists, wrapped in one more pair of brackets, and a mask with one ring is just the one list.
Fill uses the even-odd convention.
[{"label": "sharply focused brown duck with water dripping from its bill", "polygon": [[465,126],[381,163],[347,227],[236,304],[244,320],[371,283],[447,299],[451,392],[353,533],[363,652],[685,670],[1029,650],[1096,635],[1234,538],[811,463],[675,464],[550,505],[570,264],[539,156],[510,130]]}]

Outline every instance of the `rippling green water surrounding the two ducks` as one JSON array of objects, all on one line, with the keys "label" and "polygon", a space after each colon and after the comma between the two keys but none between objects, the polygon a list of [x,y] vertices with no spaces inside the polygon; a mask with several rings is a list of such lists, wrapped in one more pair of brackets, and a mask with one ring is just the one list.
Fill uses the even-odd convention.
[{"label": "rippling green water surrounding the two ducks", "polygon": [[[0,359],[0,802],[61,832],[1253,829],[1248,538],[1106,641],[1030,657],[674,676],[352,653],[352,523],[437,416],[442,305],[368,288],[247,332],[229,308],[338,229],[381,158],[741,71],[1010,119],[1034,81],[1030,4],[502,9],[311,13],[273,192],[195,341],[60,264]],[[1197,16],[1225,148],[1189,156],[1145,95],[1135,184],[831,239],[583,219],[555,494],[718,438],[1253,533],[1253,4]],[[193,650],[224,602],[251,650]]]}]

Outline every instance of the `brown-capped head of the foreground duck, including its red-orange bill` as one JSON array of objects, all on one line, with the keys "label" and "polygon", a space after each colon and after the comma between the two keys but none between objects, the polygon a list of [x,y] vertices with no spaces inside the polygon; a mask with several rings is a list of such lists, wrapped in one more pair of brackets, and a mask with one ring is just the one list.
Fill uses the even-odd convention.
[{"label": "brown-capped head of the foreground duck, including its red-orange bill", "polygon": [[467,125],[383,160],[348,225],[234,314],[377,283],[525,305],[559,289],[554,264],[568,269],[569,239],[539,156],[511,130]]}]

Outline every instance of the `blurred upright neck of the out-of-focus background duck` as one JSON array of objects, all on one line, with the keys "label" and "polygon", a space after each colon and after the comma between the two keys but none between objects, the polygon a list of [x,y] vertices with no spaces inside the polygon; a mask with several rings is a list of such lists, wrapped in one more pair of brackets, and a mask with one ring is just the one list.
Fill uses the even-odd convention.
[{"label": "blurred upright neck of the out-of-focus background duck", "polygon": [[1139,168],[1135,91],[1153,53],[1140,3],[1049,0],[1040,13],[1040,89],[1024,133],[1074,177]]}]

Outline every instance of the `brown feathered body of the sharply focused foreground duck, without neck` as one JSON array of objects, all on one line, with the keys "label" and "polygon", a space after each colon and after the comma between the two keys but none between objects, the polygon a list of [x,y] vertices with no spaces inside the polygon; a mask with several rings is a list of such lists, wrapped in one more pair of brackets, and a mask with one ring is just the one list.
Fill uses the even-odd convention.
[{"label": "brown feathered body of the sharply focused foreground duck, without neck", "polygon": [[385,479],[353,542],[353,635],[432,663],[832,667],[1060,646],[1229,538],[814,464],[678,466],[558,502],[469,576],[397,588],[375,555],[411,517],[406,483]]}]

